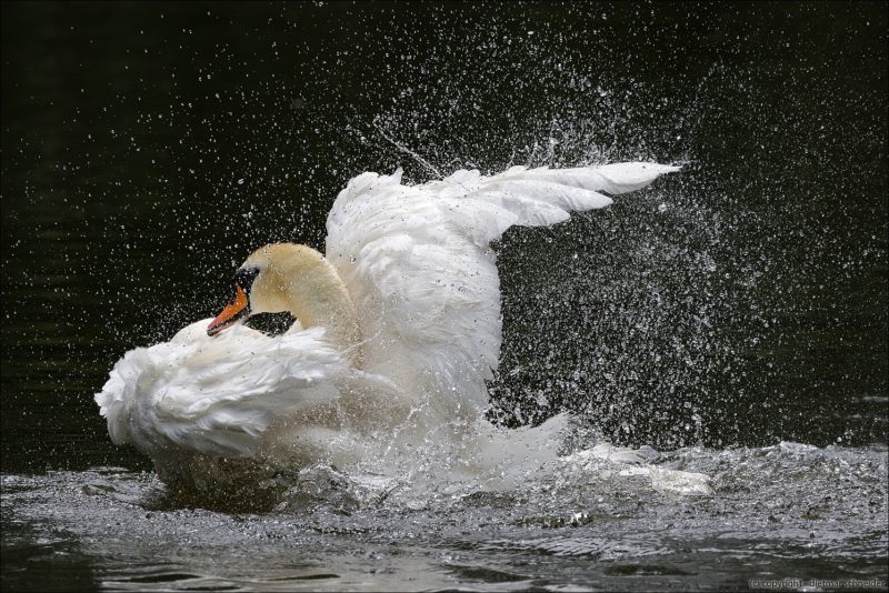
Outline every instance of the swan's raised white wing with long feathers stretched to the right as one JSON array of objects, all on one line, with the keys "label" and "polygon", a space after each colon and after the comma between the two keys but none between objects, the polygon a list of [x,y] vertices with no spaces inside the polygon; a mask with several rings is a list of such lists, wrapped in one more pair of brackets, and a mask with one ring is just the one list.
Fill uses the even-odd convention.
[{"label": "swan's raised white wing with long feathers stretched to the right", "polygon": [[[457,171],[413,187],[401,184],[400,170],[352,179],[328,217],[327,258],[359,309],[366,368],[431,395],[431,405],[480,411],[500,352],[489,243],[513,224],[561,222],[569,212],[610,204],[599,191],[625,193],[677,170],[641,162],[513,167],[493,177]],[[434,398],[442,392],[459,398]]]}]

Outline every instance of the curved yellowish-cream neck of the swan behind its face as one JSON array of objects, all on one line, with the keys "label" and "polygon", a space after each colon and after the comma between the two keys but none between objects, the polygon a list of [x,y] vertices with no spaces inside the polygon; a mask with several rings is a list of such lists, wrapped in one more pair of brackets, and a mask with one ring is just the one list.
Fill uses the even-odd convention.
[{"label": "curved yellowish-cream neck of the swan behind its face", "polygon": [[303,328],[324,328],[324,339],[360,364],[361,331],[352,299],[336,269],[306,245],[279,244],[261,310],[289,311]]}]

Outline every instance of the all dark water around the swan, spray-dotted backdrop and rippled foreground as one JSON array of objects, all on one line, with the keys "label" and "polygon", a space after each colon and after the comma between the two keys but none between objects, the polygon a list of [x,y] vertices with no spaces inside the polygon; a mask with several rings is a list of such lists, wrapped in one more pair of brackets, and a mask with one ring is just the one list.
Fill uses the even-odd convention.
[{"label": "all dark water around the swan, spray-dotted backdrop and rippled foreground", "polygon": [[[879,3],[4,4],[3,589],[885,589],[886,41]],[[685,169],[497,245],[490,418],[659,458],[260,512],[109,442],[113,362],[322,247],[350,177],[632,159]]]}]

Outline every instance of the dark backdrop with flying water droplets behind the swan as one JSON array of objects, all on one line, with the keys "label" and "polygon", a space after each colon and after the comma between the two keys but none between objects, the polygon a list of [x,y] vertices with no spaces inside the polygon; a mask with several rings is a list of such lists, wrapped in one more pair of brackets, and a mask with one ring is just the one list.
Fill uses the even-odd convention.
[{"label": "dark backdrop with flying water droplets behind the swan", "polygon": [[6,2],[3,470],[144,463],[114,361],[398,165],[685,165],[497,245],[495,421],[885,442],[887,63],[882,2]]}]

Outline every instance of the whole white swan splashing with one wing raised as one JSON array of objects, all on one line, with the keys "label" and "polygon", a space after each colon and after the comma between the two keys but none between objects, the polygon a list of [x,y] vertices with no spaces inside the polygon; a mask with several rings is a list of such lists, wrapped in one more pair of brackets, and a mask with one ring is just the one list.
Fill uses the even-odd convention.
[{"label": "whole white swan splashing with one wing raised", "polygon": [[[501,341],[490,244],[678,169],[459,170],[417,185],[400,169],[362,173],[333,202],[323,254],[261,247],[216,318],[126,353],[96,395],[111,440],[150,456],[168,485],[217,493],[317,463],[391,473],[434,456],[470,472],[509,466],[507,450],[550,459],[548,433],[512,431],[507,446],[483,418]],[[281,311],[297,319],[281,335],[242,323]]]}]

